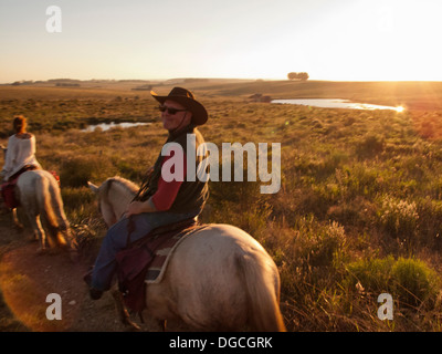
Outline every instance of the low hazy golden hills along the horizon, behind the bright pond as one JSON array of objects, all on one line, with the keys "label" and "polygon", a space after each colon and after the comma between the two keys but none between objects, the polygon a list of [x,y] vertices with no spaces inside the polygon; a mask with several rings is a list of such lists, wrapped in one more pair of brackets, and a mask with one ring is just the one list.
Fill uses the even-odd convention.
[{"label": "low hazy golden hills along the horizon, behind the bright pond", "polygon": [[[75,83],[77,86],[72,86]],[[71,84],[71,85],[70,85]],[[173,86],[185,86],[197,95],[246,98],[253,94],[272,98],[344,98],[352,102],[404,106],[408,110],[441,110],[442,82],[333,82],[333,81],[264,81],[236,79],[145,80],[50,80],[23,85],[0,85],[1,100],[72,100],[150,97],[151,86],[168,93]]]}]

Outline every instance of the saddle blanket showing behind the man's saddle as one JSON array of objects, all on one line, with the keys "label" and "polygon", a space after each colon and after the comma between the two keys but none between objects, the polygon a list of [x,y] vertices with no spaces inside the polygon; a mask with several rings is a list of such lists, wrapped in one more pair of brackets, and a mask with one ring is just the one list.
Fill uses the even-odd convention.
[{"label": "saddle blanket showing behind the man's saddle", "polygon": [[204,227],[204,225],[196,225],[172,236],[169,232],[154,236],[149,240],[149,243],[158,246],[155,249],[151,249],[154,259],[147,268],[145,282],[147,284],[159,283],[162,280],[170,257],[176,248],[190,235],[203,229]]}]

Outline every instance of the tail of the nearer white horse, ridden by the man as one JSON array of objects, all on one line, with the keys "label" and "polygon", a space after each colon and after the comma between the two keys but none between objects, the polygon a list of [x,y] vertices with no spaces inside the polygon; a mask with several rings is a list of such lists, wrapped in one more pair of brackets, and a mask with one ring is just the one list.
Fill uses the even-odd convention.
[{"label": "tail of the nearer white horse, ridden by the man", "polygon": [[280,310],[280,274],[262,254],[236,258],[248,290],[249,324],[256,332],[285,332]]}]

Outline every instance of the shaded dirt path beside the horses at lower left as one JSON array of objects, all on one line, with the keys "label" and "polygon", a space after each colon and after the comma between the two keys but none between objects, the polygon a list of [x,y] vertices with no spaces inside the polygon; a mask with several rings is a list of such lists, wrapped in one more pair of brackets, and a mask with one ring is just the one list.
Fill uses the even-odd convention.
[{"label": "shaded dirt path beside the horses at lower left", "polygon": [[[30,230],[18,231],[8,215],[0,216],[0,332],[127,330],[116,316],[110,294],[98,301],[88,298],[83,282],[87,264],[73,263],[67,254],[38,254],[38,243],[30,237]],[[61,296],[61,320],[46,317],[51,293]],[[152,329],[145,325],[145,330]]]}]

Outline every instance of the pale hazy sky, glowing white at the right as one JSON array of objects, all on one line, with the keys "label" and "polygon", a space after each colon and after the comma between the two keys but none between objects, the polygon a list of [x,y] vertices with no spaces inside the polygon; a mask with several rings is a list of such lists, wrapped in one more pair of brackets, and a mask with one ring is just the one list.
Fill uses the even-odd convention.
[{"label": "pale hazy sky, glowing white at the right", "polygon": [[441,13],[441,0],[0,0],[0,83],[442,81]]}]

